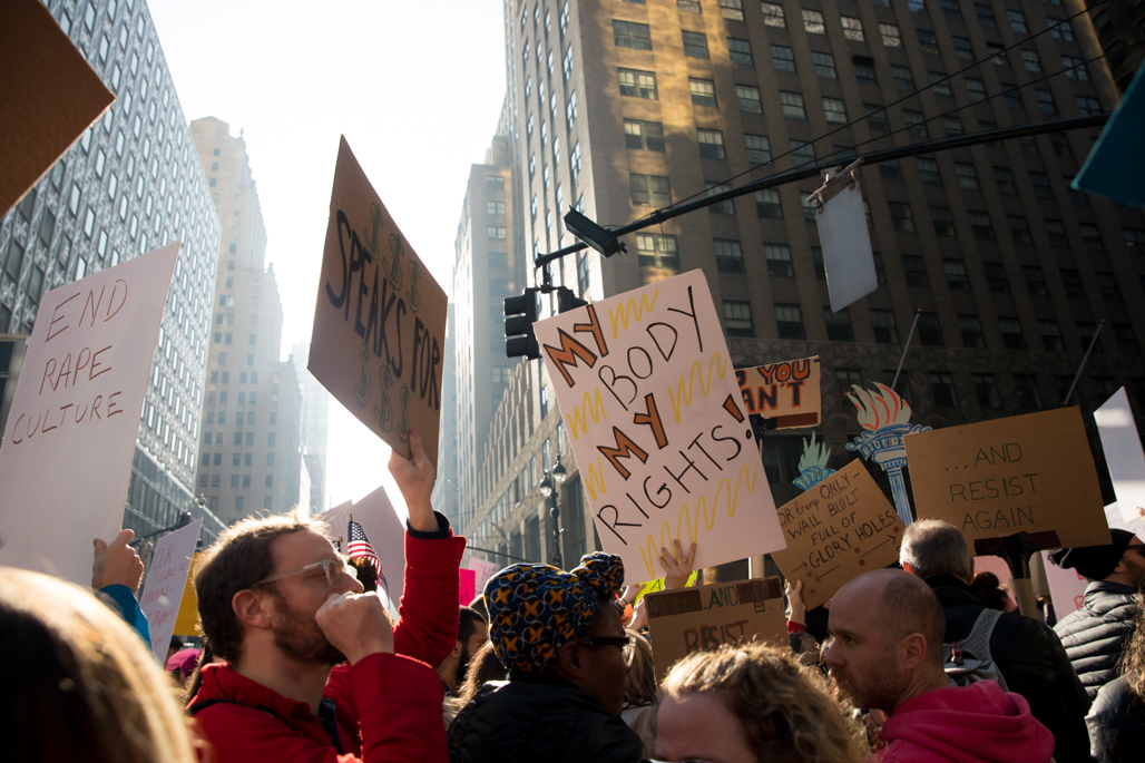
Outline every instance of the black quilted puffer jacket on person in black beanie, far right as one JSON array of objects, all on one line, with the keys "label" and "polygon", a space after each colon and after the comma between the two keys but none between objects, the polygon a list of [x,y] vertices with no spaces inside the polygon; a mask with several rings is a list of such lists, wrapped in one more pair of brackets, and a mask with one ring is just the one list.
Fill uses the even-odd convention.
[{"label": "black quilted puffer jacket on person in black beanie, far right", "polygon": [[1130,585],[1093,581],[1085,588],[1081,609],[1053,627],[1091,700],[1118,677],[1121,650],[1134,632],[1136,597],[1137,589]]}]

